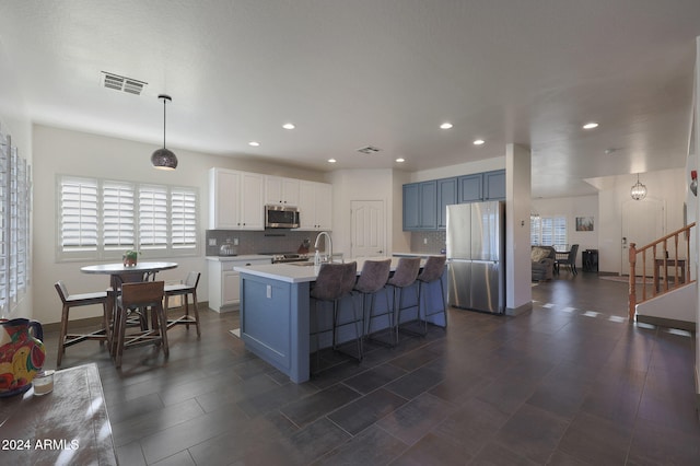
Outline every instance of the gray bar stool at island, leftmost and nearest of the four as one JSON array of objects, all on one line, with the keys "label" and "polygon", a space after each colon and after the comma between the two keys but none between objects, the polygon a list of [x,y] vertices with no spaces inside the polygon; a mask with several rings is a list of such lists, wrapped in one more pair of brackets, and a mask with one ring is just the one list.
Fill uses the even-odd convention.
[{"label": "gray bar stool at island, leftmost and nearest of the four", "polygon": [[357,280],[358,273],[358,264],[355,261],[347,263],[347,264],[322,264],[318,269],[318,276],[316,277],[316,283],[311,289],[311,298],[316,301],[315,305],[315,318],[313,323],[315,325],[315,331],[311,333],[311,336],[316,337],[316,359],[319,360],[319,338],[318,336],[328,329],[320,329],[320,304],[324,302],[332,303],[332,348],[338,351],[337,337],[338,337],[338,328],[345,327],[347,325],[354,325],[355,330],[355,340],[358,345],[358,354],[350,354],[353,358],[357,358],[359,361],[362,360],[362,315],[358,316],[354,301],[352,301],[352,319],[341,322],[340,321],[340,312],[339,312],[339,302],[341,299],[350,295],[352,292],[352,288],[354,287],[354,282]]}]

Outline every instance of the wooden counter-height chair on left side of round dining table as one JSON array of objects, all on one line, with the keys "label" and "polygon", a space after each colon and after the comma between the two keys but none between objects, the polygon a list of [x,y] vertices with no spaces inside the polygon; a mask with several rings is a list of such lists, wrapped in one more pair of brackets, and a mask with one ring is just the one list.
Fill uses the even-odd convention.
[{"label": "wooden counter-height chair on left side of round dining table", "polygon": [[[107,305],[107,292],[97,291],[94,293],[70,294],[66,284],[60,280],[57,281],[54,287],[56,288],[58,296],[61,299],[61,303],[63,304],[61,310],[61,329],[58,337],[58,356],[56,357],[56,366],[61,365],[61,359],[63,358],[66,348],[81,341],[98,340],[101,345],[103,341],[106,341],[107,348],[112,352],[112,308]],[[70,308],[93,304],[102,304],[102,328],[86,334],[69,334],[68,322]]]}]

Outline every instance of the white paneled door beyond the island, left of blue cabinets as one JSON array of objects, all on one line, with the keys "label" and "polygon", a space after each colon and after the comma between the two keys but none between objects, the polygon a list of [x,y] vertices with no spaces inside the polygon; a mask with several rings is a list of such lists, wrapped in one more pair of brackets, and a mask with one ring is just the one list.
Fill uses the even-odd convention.
[{"label": "white paneled door beyond the island, left of blue cabinets", "polygon": [[386,254],[386,215],[383,200],[350,202],[352,257],[375,257]]}]

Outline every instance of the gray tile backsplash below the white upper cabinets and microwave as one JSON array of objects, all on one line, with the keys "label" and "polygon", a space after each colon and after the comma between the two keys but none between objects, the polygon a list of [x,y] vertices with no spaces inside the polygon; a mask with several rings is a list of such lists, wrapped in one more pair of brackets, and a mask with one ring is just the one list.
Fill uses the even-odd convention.
[{"label": "gray tile backsplash below the white upper cabinets and microwave", "polygon": [[[300,232],[293,230],[265,230],[265,231],[241,231],[241,230],[207,230],[207,256],[218,256],[219,247],[226,243],[238,241],[234,246],[236,254],[259,254],[259,253],[296,253],[304,242],[308,240],[311,252],[313,253],[314,241],[317,232]],[[211,241],[214,245],[210,245]]]}]

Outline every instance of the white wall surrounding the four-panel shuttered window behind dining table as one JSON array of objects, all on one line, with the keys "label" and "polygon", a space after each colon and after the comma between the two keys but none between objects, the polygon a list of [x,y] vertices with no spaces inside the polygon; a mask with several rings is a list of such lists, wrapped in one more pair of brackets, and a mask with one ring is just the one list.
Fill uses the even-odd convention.
[{"label": "white wall surrounding the four-panel shuttered window behind dining table", "polygon": [[[170,147],[178,158],[179,164],[174,172],[163,172],[151,166],[150,156],[155,145],[109,138],[85,132],[51,128],[34,127],[34,248],[33,248],[33,283],[34,283],[34,318],[42,323],[60,322],[60,305],[54,290],[57,280],[63,280],[71,293],[104,290],[108,277],[89,276],[80,272],[82,261],[58,263],[56,232],[56,175],[84,175],[128,179],[135,182],[152,182],[195,186],[199,188],[200,210],[199,240],[203,242],[208,223],[209,187],[208,171],[218,166],[231,170],[284,175],[303,179],[325,182],[320,173],[287,168],[249,160],[229,156],[217,156],[196,153]],[[148,259],[143,254],[142,260]],[[205,247],[197,257],[177,258],[178,268],[159,273],[159,279],[180,279],[189,270],[202,271],[199,282],[198,298],[207,301],[208,282],[205,259]],[[71,318],[83,318],[101,315],[96,306],[71,312]]]}]

